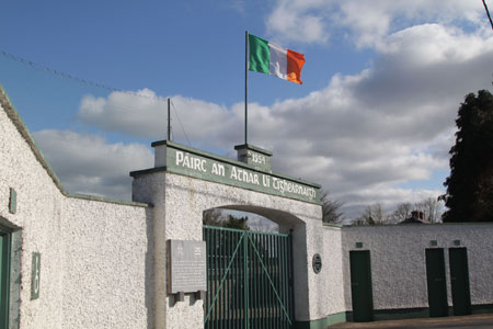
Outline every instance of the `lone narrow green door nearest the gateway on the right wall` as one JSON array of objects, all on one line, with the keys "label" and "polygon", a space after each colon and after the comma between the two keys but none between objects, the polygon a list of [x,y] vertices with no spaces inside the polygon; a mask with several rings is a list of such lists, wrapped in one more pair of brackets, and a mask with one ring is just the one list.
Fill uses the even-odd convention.
[{"label": "lone narrow green door nearest the gateway on the right wall", "polygon": [[369,250],[349,251],[349,262],[353,321],[372,321],[374,297],[371,291],[371,265]]}]

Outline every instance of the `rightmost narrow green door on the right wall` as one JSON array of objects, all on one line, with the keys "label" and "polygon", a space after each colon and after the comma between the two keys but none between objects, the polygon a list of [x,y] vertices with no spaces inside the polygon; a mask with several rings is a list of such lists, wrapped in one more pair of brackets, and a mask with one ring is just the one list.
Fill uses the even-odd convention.
[{"label": "rightmost narrow green door on the right wall", "polygon": [[454,315],[471,314],[471,293],[469,290],[468,251],[466,248],[448,249]]}]

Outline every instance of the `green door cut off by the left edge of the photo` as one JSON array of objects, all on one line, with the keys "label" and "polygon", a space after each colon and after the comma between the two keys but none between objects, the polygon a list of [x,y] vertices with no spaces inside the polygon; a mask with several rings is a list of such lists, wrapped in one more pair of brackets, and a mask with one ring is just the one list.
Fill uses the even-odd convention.
[{"label": "green door cut off by the left edge of the photo", "polygon": [[0,329],[9,327],[10,236],[0,232]]}]

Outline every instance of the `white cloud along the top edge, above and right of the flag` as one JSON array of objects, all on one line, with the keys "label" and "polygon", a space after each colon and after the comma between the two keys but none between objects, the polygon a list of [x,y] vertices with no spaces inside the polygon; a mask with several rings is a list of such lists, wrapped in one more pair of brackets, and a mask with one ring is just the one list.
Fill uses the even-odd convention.
[{"label": "white cloud along the top edge, above and right of the flag", "polygon": [[409,25],[479,24],[483,19],[480,1],[278,0],[266,25],[274,38],[284,41],[324,43],[331,33],[348,31],[357,46],[379,47],[387,35]]}]

